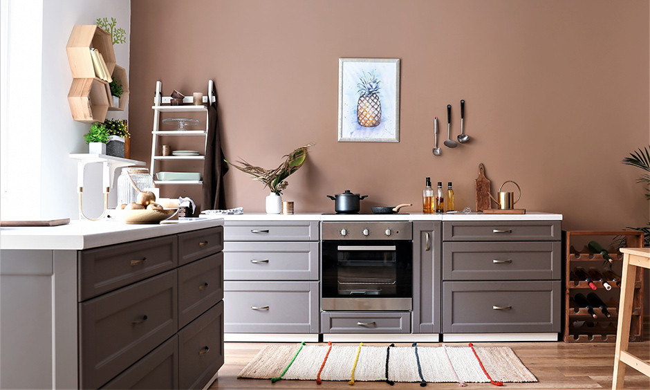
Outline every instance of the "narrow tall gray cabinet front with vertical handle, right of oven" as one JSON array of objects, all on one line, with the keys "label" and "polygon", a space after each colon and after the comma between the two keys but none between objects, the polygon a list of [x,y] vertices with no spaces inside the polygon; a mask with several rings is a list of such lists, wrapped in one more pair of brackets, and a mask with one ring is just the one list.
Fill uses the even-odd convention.
[{"label": "narrow tall gray cabinet front with vertical handle, right of oven", "polygon": [[413,333],[440,333],[441,226],[413,223]]}]

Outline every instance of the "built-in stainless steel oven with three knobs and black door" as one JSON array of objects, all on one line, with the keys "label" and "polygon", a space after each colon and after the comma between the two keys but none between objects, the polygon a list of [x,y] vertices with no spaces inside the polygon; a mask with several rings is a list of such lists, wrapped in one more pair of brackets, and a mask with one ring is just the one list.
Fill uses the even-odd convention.
[{"label": "built-in stainless steel oven with three knobs and black door", "polygon": [[322,223],[322,310],[411,310],[411,222]]}]

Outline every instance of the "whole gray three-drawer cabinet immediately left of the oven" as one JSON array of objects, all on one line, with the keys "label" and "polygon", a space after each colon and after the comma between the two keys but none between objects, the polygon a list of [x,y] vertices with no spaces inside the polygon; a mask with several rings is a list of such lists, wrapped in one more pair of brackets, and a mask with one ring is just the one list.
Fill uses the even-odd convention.
[{"label": "whole gray three-drawer cabinet immediately left of the oven", "polygon": [[318,221],[226,221],[225,333],[319,332]]}]

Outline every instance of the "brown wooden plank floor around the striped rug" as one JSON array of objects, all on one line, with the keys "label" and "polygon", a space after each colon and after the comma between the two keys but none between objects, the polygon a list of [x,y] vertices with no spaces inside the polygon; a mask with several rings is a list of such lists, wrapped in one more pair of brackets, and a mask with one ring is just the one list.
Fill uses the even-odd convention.
[{"label": "brown wooden plank floor around the striped rug", "polygon": [[[646,337],[647,338],[647,337]],[[219,370],[210,389],[420,389],[419,383],[384,382],[322,382],[313,380],[237,379],[237,374],[271,343],[225,343],[225,364]],[[277,343],[275,343],[277,344]],[[342,344],[342,343],[335,343]],[[364,343],[366,344],[366,343]],[[466,346],[467,343],[447,343],[449,346]],[[614,363],[613,343],[566,344],[564,342],[474,343],[476,346],[510,346],[519,359],[537,377],[535,383],[505,383],[503,389],[611,389]],[[366,345],[380,345],[368,343]],[[396,344],[409,346],[409,343]],[[418,346],[439,346],[438,343],[418,343]],[[643,360],[650,359],[650,342],[631,343],[629,351]],[[455,383],[429,383],[426,389],[462,389]],[[468,383],[471,389],[498,389],[492,384]],[[625,371],[625,389],[649,390],[650,378],[630,367]]]}]

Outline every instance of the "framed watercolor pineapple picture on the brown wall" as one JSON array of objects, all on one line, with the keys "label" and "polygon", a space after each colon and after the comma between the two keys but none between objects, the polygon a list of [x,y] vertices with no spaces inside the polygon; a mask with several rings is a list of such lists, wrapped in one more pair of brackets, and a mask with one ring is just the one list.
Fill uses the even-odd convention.
[{"label": "framed watercolor pineapple picture on the brown wall", "polygon": [[339,59],[339,142],[400,142],[399,59]]}]

